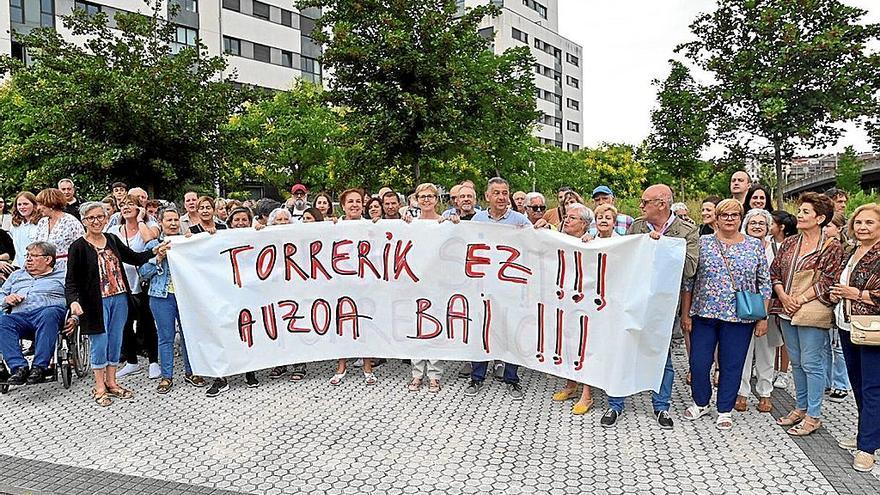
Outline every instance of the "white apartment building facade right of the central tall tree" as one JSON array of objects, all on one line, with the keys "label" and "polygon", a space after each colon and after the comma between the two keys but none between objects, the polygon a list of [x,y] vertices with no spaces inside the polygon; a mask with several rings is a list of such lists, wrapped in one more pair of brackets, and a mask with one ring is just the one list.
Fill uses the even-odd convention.
[{"label": "white apartment building facade right of the central tall tree", "polygon": [[559,0],[458,0],[459,8],[492,3],[501,15],[480,33],[493,50],[527,46],[535,57],[536,102],[542,117],[535,136],[544,144],[579,150],[583,137],[583,47],[559,34]]}]

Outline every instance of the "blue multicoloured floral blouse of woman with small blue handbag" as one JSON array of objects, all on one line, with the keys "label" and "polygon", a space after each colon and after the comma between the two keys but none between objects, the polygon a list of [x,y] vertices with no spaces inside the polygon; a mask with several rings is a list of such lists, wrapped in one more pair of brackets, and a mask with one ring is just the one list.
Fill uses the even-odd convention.
[{"label": "blue multicoloured floral blouse of woman with small blue handbag", "polygon": [[[722,249],[730,264],[729,271],[721,255]],[[733,280],[730,279],[731,272]],[[764,299],[770,299],[770,271],[761,241],[746,236],[743,242],[728,246],[718,241],[714,234],[700,237],[697,274],[685,283],[685,291],[693,292],[691,316],[734,323],[751,322],[736,316],[736,292],[739,290],[758,292]]]}]

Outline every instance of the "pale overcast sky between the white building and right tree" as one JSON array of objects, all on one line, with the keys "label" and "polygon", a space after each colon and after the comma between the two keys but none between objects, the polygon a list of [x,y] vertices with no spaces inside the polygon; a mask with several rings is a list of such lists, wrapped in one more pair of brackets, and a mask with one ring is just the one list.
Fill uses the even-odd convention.
[{"label": "pale overcast sky between the white building and right tree", "polygon": [[[880,1],[844,0],[880,22]],[[714,0],[559,0],[560,34],[584,47],[584,144],[637,144],[651,130],[653,79],[666,77],[673,49],[690,36],[697,14]],[[867,139],[850,130],[837,148],[868,151]]]}]

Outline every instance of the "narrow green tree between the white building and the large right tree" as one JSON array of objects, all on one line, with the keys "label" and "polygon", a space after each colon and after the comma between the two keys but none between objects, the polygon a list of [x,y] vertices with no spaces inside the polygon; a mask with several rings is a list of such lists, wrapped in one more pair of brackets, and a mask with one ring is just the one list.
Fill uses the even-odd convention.
[{"label": "narrow green tree between the white building and the large right tree", "polygon": [[694,179],[705,167],[700,154],[709,142],[711,118],[703,90],[690,70],[675,60],[670,60],[670,65],[665,80],[654,80],[658,105],[651,111],[653,129],[647,140],[647,156],[652,175],[669,181],[684,196],[693,192]]}]

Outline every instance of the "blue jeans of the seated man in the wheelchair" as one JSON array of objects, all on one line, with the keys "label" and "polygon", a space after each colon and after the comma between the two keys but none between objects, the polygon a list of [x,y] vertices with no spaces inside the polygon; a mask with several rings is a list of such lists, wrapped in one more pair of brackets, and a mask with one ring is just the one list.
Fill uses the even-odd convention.
[{"label": "blue jeans of the seated man in the wheelchair", "polygon": [[46,306],[22,313],[0,315],[0,354],[9,371],[27,368],[20,339],[34,341],[34,366],[46,369],[55,354],[64,306]]}]

